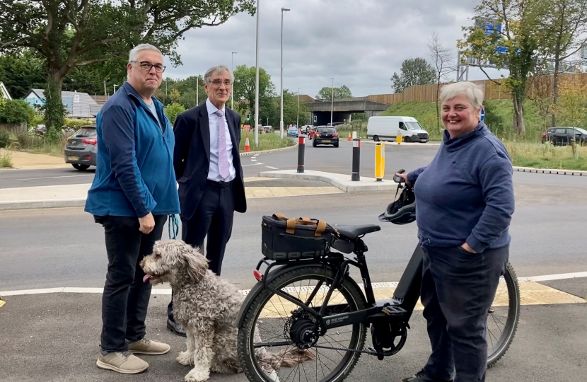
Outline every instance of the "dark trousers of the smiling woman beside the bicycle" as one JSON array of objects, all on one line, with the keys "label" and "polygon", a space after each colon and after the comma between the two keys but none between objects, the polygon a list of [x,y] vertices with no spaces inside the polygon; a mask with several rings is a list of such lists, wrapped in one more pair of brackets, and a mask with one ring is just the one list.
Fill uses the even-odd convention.
[{"label": "dark trousers of the smiling woman beside the bicycle", "polygon": [[424,371],[455,382],[483,382],[487,369],[486,321],[509,245],[483,253],[423,247],[422,304],[432,354]]}]

